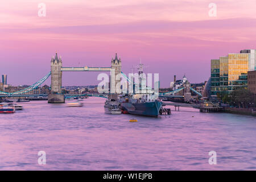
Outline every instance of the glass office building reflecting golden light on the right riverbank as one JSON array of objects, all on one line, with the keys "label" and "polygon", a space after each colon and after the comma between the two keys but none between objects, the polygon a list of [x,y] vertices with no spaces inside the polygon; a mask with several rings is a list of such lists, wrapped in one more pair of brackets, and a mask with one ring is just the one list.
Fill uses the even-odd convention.
[{"label": "glass office building reflecting golden light on the right riverbank", "polygon": [[230,94],[239,86],[247,86],[247,72],[256,69],[254,49],[211,60],[211,95]]}]

